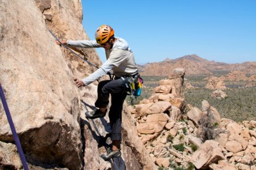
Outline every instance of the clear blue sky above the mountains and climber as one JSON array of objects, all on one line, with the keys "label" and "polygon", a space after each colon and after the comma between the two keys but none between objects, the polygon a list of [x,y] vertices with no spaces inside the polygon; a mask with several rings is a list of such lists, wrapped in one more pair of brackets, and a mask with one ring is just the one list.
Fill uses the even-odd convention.
[{"label": "clear blue sky above the mountains and climber", "polygon": [[[197,54],[209,61],[256,61],[255,0],[82,0],[90,39],[102,24],[125,39],[138,64]],[[97,49],[103,62],[104,49]]]}]

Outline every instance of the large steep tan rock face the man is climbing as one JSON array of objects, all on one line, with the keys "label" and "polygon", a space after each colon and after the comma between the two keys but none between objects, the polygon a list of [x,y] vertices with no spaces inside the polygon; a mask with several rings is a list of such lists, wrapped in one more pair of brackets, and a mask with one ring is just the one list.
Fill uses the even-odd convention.
[{"label": "large steep tan rock face the man is climbing", "polygon": [[[30,169],[111,169],[101,159],[99,135],[85,119],[81,100],[93,105],[97,86],[77,88],[95,68],[58,46],[60,39],[88,39],[82,27],[80,0],[0,1],[0,82]],[[95,65],[94,49],[74,49]],[[97,120],[102,135],[108,120]],[[103,123],[103,124],[102,124]],[[0,103],[0,169],[22,169],[9,123]],[[123,116],[122,158],[127,169],[154,169],[135,137],[133,122]],[[105,151],[106,152],[106,151]]]}]

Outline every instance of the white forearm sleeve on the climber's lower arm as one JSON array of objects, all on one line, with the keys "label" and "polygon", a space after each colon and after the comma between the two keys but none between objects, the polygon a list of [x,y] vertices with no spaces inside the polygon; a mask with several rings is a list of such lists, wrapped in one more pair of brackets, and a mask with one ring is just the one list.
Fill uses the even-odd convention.
[{"label": "white forearm sleeve on the climber's lower arm", "polygon": [[89,85],[90,83],[94,82],[95,80],[101,78],[102,76],[106,75],[110,70],[114,67],[113,64],[105,62],[98,70],[94,71],[94,73],[90,74],[86,78],[82,79],[84,86]]}]

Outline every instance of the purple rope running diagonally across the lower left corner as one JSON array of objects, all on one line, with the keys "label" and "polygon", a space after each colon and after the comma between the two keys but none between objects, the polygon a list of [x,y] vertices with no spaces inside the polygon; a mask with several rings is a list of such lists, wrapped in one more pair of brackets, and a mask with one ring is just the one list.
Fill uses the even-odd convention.
[{"label": "purple rope running diagonally across the lower left corner", "polygon": [[14,123],[13,123],[13,119],[11,118],[11,113],[9,111],[9,108],[8,108],[8,105],[7,105],[7,102],[6,102],[5,94],[3,93],[1,83],[0,83],[0,96],[1,96],[2,103],[3,103],[3,108],[5,108],[5,113],[6,113],[7,120],[9,122],[9,125],[10,125],[10,128],[11,128],[11,133],[13,133],[13,138],[14,138],[16,147],[17,147],[18,152],[19,152],[19,157],[22,161],[23,168],[25,170],[28,170],[27,161],[26,161],[26,158],[24,156],[22,146],[20,145],[19,137],[16,133],[15,126],[14,126]]}]

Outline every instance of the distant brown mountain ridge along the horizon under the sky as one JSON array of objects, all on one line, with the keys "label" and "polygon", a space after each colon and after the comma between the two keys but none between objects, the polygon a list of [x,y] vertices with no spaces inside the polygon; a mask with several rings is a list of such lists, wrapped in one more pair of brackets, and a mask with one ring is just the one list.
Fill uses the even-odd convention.
[{"label": "distant brown mountain ridge along the horizon under the sky", "polygon": [[213,71],[240,70],[245,74],[256,74],[256,62],[224,63],[208,61],[196,54],[187,55],[176,59],[166,58],[161,62],[146,63],[139,65],[141,75],[163,76],[169,75],[172,70],[181,67],[187,75],[212,74]]}]

